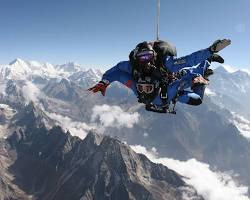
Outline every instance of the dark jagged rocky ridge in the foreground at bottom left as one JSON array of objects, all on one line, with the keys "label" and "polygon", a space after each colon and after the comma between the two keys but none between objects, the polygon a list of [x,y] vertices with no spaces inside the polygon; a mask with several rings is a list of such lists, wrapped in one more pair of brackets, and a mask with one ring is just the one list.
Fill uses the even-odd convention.
[{"label": "dark jagged rocky ridge in the foreground at bottom left", "polygon": [[180,175],[117,139],[48,130],[34,105],[17,116],[16,131],[0,143],[1,199],[203,199]]}]

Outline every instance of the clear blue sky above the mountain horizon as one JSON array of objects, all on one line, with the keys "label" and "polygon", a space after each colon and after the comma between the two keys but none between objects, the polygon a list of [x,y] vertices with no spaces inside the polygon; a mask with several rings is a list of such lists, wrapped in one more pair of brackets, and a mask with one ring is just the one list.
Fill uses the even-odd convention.
[{"label": "clear blue sky above the mountain horizon", "polygon": [[[0,63],[14,58],[107,69],[156,37],[157,0],[0,0]],[[226,64],[250,69],[250,0],[161,0],[160,39],[178,56],[230,38]]]}]

